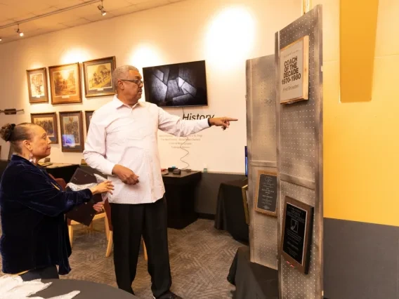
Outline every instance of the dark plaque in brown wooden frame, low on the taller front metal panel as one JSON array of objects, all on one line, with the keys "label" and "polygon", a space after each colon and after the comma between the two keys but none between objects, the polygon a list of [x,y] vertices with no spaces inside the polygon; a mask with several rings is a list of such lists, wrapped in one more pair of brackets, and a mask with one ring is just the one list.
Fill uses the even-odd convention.
[{"label": "dark plaque in brown wooden frame, low on the taller front metal panel", "polygon": [[313,207],[285,197],[282,225],[282,255],[299,271],[308,274]]}]

